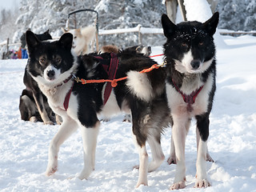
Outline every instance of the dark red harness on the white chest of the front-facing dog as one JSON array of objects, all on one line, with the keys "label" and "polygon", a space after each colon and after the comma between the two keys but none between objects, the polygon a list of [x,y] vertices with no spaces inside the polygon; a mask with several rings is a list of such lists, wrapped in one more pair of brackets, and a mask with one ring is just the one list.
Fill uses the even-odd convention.
[{"label": "dark red harness on the white chest of the front-facing dog", "polygon": [[200,93],[200,91],[203,88],[203,85],[200,86],[198,90],[194,90],[191,94],[187,95],[187,94],[184,94],[180,89],[178,89],[178,86],[176,86],[173,79],[171,79],[171,80],[174,83],[175,89],[178,91],[178,93],[180,93],[182,95],[183,101],[187,103],[186,109],[191,112],[192,111],[191,105],[194,104],[195,99],[198,97],[198,94]]}]

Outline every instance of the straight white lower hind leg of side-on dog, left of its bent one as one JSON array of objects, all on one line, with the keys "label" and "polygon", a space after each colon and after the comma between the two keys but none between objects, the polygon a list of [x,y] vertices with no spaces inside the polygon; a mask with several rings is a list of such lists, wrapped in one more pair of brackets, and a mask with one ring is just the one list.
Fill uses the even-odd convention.
[{"label": "straight white lower hind leg of side-on dog, left of its bent one", "polygon": [[138,154],[139,154],[139,166],[135,166],[135,168],[138,168],[138,182],[135,187],[138,188],[140,185],[148,186],[148,182],[147,182],[148,154],[146,152],[146,145],[145,145],[146,143],[144,143],[143,146],[139,146],[135,134],[133,133],[132,135],[133,135],[134,145],[138,148]]}]

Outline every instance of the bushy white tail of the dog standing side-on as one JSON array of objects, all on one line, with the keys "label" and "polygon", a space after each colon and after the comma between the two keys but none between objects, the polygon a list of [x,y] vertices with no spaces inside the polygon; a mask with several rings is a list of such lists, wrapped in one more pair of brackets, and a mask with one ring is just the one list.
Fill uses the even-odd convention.
[{"label": "bushy white tail of the dog standing side-on", "polygon": [[128,86],[132,94],[136,95],[145,102],[149,102],[152,98],[154,98],[153,87],[147,74],[130,70],[127,73],[126,86]]}]

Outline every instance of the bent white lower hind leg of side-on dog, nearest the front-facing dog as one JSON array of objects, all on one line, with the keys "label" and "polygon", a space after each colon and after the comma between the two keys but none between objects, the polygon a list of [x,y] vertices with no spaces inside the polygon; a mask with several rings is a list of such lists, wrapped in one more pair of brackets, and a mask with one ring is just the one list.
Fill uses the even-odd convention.
[{"label": "bent white lower hind leg of side-on dog, nearest the front-facing dog", "polygon": [[152,162],[149,165],[149,172],[158,169],[158,167],[162,164],[165,160],[165,155],[162,153],[162,147],[160,143],[160,136],[159,139],[149,134],[147,142],[150,145],[150,149],[152,152]]}]

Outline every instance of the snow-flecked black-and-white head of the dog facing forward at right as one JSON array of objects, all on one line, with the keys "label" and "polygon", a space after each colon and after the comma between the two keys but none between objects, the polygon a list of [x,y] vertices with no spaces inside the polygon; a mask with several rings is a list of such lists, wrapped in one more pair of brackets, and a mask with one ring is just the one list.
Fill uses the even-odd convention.
[{"label": "snow-flecked black-and-white head of the dog facing forward at right", "polygon": [[214,60],[213,35],[218,26],[218,12],[206,22],[181,22],[175,25],[162,14],[162,28],[167,38],[166,59],[174,61],[180,73],[203,73]]}]

